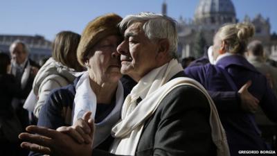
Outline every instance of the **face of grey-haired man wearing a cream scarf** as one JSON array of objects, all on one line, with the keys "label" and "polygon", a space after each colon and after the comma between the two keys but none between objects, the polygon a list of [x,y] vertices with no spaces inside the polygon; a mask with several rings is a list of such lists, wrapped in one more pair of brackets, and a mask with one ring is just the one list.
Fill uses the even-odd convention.
[{"label": "face of grey-haired man wearing a cream scarf", "polygon": [[131,76],[136,81],[157,68],[159,46],[145,36],[142,26],[141,22],[129,26],[124,33],[125,39],[117,48],[121,54],[121,73]]}]

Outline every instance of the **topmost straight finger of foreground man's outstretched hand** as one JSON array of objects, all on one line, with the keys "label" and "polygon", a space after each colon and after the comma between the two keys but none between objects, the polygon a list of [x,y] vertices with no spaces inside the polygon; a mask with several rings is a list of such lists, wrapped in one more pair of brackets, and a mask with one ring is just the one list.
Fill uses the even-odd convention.
[{"label": "topmost straight finger of foreground man's outstretched hand", "polygon": [[46,137],[55,138],[55,136],[59,133],[56,130],[52,130],[50,128],[44,128],[37,125],[29,125],[26,130],[28,132],[37,133],[39,135],[44,135]]}]

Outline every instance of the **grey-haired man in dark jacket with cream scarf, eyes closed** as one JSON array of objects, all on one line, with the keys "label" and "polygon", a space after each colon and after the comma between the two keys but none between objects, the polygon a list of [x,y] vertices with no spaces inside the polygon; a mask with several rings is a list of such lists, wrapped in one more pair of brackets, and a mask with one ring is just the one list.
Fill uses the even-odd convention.
[{"label": "grey-haired man in dark jacket with cream scarf, eyes closed", "polygon": [[[76,144],[75,150],[89,150],[86,155],[229,155],[211,97],[195,80],[184,78],[177,62],[175,21],[143,12],[125,17],[120,30],[124,35],[117,49],[121,54],[120,71],[138,84],[125,99],[121,120],[111,130],[115,140],[109,153]],[[93,123],[86,117],[84,121],[93,132]],[[27,130],[46,137],[24,133],[19,136],[21,139],[42,145],[23,143],[24,148],[73,155],[68,150],[73,143],[64,148],[59,141],[66,139],[69,144],[64,133],[35,126]],[[59,148],[51,146],[54,140]]]}]

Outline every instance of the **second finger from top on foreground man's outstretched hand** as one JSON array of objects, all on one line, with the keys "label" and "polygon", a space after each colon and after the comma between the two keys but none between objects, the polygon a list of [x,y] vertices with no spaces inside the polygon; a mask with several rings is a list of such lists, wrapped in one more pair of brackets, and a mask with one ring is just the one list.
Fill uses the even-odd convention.
[{"label": "second finger from top on foreground man's outstretched hand", "polygon": [[19,139],[23,139],[25,141],[30,141],[32,143],[39,144],[42,146],[47,146],[47,147],[51,146],[51,141],[52,141],[51,138],[44,137],[42,135],[34,135],[27,132],[22,132],[18,137]]}]

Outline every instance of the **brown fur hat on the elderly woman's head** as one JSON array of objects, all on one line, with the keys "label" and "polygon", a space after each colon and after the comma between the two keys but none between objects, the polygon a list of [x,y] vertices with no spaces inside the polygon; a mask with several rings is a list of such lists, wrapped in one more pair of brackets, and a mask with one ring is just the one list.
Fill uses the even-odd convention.
[{"label": "brown fur hat on the elderly woman's head", "polygon": [[109,35],[120,35],[118,23],[122,18],[114,13],[102,15],[93,19],[87,24],[82,32],[80,44],[77,50],[79,63],[84,67],[84,62],[89,59],[93,52],[93,46],[96,45],[104,37]]}]

